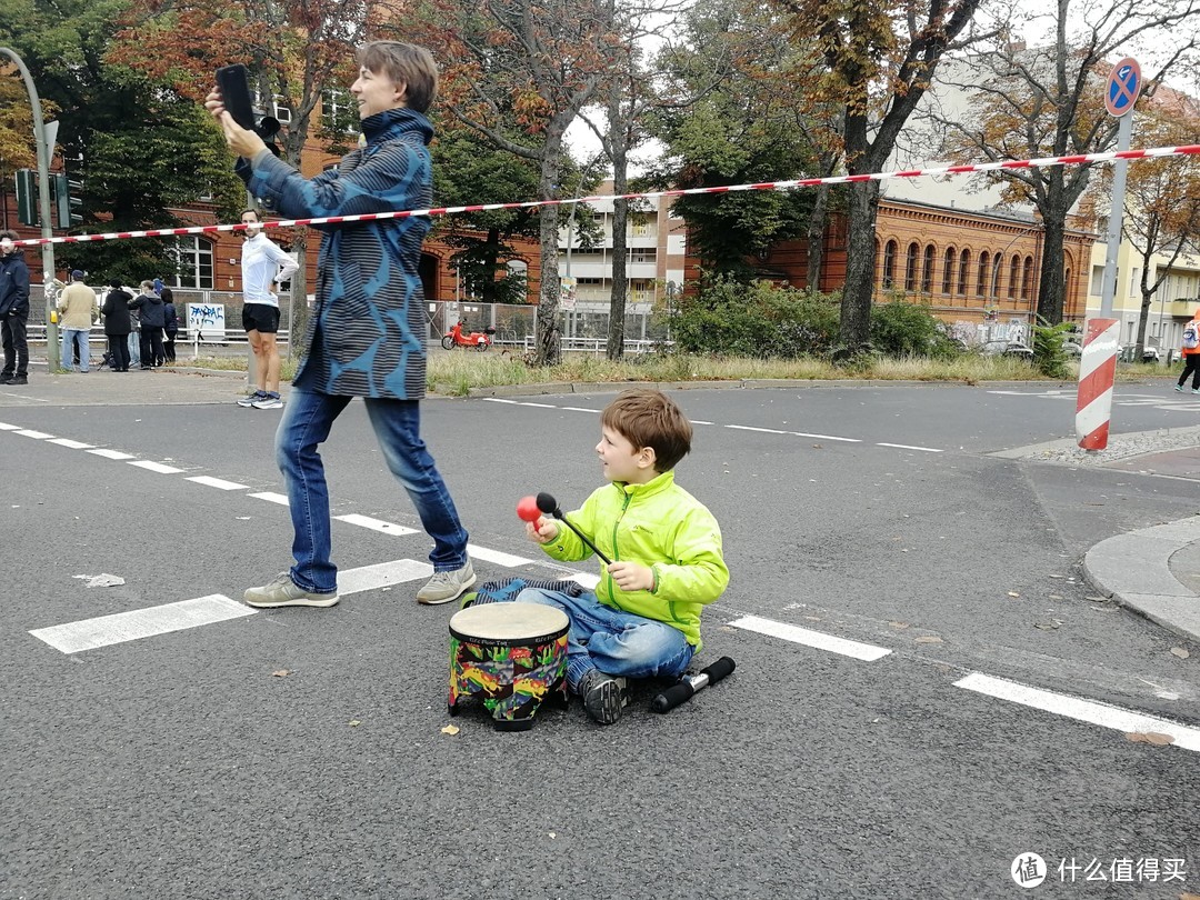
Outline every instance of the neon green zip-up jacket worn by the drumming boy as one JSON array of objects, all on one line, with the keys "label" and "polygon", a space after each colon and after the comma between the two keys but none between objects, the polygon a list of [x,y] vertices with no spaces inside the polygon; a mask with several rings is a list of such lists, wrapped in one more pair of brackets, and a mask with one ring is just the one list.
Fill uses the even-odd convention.
[{"label": "neon green zip-up jacket worn by the drumming boy", "polygon": [[[600,602],[679,629],[700,649],[700,611],[730,583],[721,557],[721,529],[700,500],[677,486],[674,472],[644,485],[619,481],[599,487],[566,517],[600,551],[654,570],[654,588],[623,592],[600,564]],[[592,556],[578,535],[558,522],[558,538],[541,548],[563,562]]]}]

